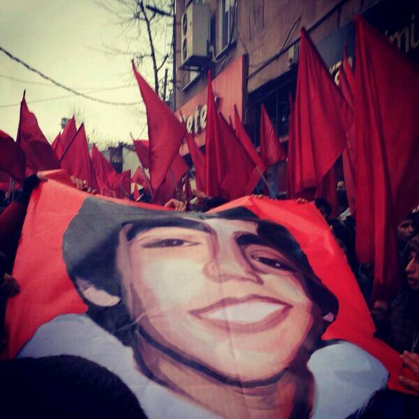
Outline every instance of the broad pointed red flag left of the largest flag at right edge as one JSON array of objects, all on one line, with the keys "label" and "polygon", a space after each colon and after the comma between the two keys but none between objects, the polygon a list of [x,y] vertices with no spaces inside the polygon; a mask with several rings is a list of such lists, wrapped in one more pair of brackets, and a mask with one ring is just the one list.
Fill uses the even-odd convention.
[{"label": "broad pointed red flag left of the largest flag at right edge", "polygon": [[293,139],[288,164],[293,196],[317,188],[342,153],[351,109],[306,31],[301,31]]}]

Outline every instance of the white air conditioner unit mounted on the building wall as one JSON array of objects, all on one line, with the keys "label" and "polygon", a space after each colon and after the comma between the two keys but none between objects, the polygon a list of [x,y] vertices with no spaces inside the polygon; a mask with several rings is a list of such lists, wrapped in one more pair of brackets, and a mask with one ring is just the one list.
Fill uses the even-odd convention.
[{"label": "white air conditioner unit mounted on the building wall", "polygon": [[210,39],[210,5],[190,3],[182,14],[181,30],[181,68],[205,66]]}]

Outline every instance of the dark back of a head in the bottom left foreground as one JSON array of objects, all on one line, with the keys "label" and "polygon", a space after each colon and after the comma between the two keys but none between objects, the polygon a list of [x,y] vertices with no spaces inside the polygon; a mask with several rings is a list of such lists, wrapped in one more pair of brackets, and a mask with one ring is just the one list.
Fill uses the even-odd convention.
[{"label": "dark back of a head in the bottom left foreground", "polygon": [[2,418],[146,418],[128,386],[105,367],[59,355],[0,362]]}]

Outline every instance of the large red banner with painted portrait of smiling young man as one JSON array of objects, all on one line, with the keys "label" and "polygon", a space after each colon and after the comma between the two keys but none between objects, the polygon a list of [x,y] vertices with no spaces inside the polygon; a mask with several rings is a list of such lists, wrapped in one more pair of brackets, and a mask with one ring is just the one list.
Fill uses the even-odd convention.
[{"label": "large red banner with painted portrait of smiling young man", "polygon": [[178,213],[50,179],[13,273],[7,357],[78,357],[93,378],[84,362],[105,367],[149,418],[346,418],[399,389],[399,355],[372,337],[312,204]]}]

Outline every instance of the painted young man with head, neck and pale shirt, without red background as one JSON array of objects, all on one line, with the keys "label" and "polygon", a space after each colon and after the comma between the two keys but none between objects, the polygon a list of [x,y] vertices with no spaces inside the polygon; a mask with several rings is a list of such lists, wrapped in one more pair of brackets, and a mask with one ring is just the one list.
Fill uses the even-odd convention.
[{"label": "painted young man with head, neck and pale shirt, without red background", "polygon": [[[358,346],[321,340],[337,298],[284,226],[245,208],[179,214],[87,198],[63,258],[87,314],[42,325],[20,356],[93,360],[149,417],[321,418],[332,404],[344,418],[387,381]],[[369,373],[362,392],[330,375],[351,365]]]}]

